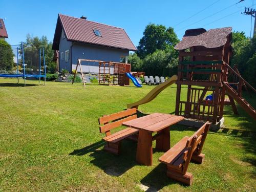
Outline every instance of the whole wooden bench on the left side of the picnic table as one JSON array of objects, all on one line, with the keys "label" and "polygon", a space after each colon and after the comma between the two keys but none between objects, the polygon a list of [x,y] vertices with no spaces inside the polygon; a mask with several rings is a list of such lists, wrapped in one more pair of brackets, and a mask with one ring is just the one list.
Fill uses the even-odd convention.
[{"label": "whole wooden bench on the left side of the picnic table", "polygon": [[105,151],[118,155],[121,150],[121,141],[123,139],[129,138],[138,140],[138,137],[136,137],[135,134],[138,134],[139,131],[130,127],[114,134],[111,134],[110,132],[110,130],[121,126],[123,122],[136,119],[136,112],[136,108],[133,108],[99,118],[99,124],[103,124],[99,127],[100,133],[105,133],[106,135],[106,137],[103,138],[103,140],[106,141],[104,146]]}]

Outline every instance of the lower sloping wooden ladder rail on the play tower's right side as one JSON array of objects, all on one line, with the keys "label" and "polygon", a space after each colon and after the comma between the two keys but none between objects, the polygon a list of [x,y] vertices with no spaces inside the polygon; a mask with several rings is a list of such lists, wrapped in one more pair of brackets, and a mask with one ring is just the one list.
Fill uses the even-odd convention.
[{"label": "lower sloping wooden ladder rail on the play tower's right side", "polygon": [[256,111],[255,109],[236,91],[234,90],[228,82],[223,82],[223,87],[225,91],[231,96],[234,100],[242,106],[242,108],[253,118],[256,119]]}]

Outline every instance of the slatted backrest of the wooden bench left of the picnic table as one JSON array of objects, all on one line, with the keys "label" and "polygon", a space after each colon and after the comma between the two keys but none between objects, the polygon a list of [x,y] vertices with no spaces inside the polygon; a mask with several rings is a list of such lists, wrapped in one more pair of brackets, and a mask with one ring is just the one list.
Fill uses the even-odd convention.
[{"label": "slatted backrest of the wooden bench left of the picnic table", "polygon": [[128,109],[122,112],[114,113],[111,115],[105,115],[99,118],[99,124],[103,124],[99,127],[100,133],[105,133],[106,136],[109,136],[110,130],[115,129],[118,126],[121,126],[123,122],[129,121],[137,118],[136,108]]}]

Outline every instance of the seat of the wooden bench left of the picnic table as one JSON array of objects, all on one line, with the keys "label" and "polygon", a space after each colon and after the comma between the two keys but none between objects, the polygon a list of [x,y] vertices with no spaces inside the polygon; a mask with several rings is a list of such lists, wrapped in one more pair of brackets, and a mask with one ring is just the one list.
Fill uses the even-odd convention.
[{"label": "seat of the wooden bench left of the picnic table", "polygon": [[139,130],[133,129],[133,128],[126,128],[124,130],[121,130],[117,133],[111,134],[107,137],[104,137],[103,140],[108,141],[108,142],[112,142],[112,143],[116,143],[119,142],[131,135],[134,135],[136,133],[138,133]]}]

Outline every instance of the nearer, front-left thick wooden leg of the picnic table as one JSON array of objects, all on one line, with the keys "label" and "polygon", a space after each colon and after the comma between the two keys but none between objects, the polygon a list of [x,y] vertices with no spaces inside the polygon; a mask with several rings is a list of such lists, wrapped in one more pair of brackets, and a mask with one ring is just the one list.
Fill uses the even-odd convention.
[{"label": "nearer, front-left thick wooden leg of the picnic table", "polygon": [[153,162],[152,133],[139,131],[137,144],[136,161],[138,163],[150,166]]}]

